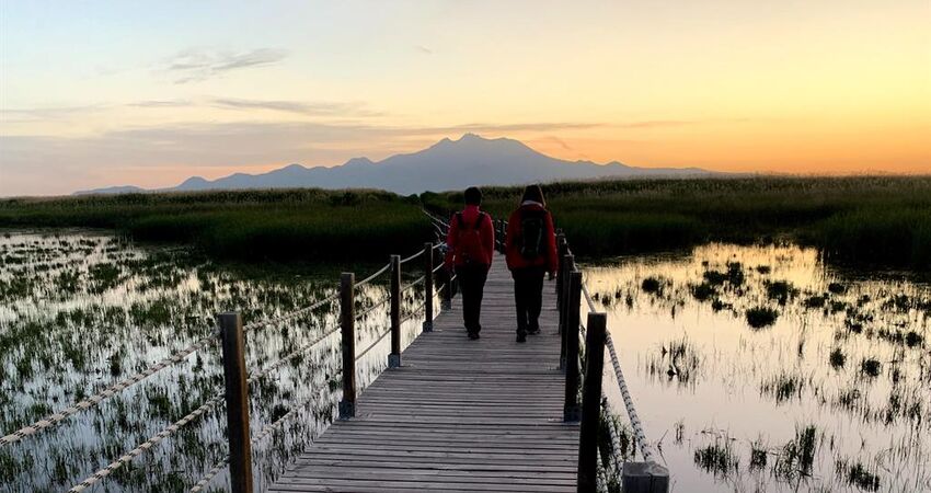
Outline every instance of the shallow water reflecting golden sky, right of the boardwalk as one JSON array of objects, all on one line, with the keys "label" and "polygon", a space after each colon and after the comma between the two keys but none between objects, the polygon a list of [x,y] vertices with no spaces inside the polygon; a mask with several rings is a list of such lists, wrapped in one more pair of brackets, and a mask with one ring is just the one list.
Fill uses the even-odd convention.
[{"label": "shallow water reflecting golden sky, right of the boardwalk", "polygon": [[[745,280],[739,288],[727,283],[716,287],[724,308],[715,311],[711,299],[700,302],[692,296],[690,289],[704,280],[705,271],[726,273],[726,264],[735,262],[742,264]],[[846,477],[839,479],[838,459],[859,461],[877,474],[880,491],[931,490],[927,285],[894,276],[849,280],[827,271],[816,251],[796,246],[712,244],[690,256],[629,259],[586,268],[585,274],[593,294],[610,298],[609,328],[628,385],[648,438],[662,438],[675,491],[796,491],[796,484],[798,491],[857,491]],[[662,294],[642,289],[647,277],[660,280]],[[777,280],[797,289],[785,306],[768,299],[766,283]],[[828,294],[831,283],[846,293]],[[825,294],[825,308],[804,306]],[[869,301],[861,299],[864,295]],[[889,299],[897,295],[919,308],[896,308]],[[837,302],[834,310],[830,301]],[[772,326],[754,330],[747,324],[745,311],[758,306],[778,310]],[[862,323],[859,333],[849,329],[848,319]],[[923,341],[909,347],[898,340],[908,332]],[[685,355],[670,368],[663,349],[682,343]],[[830,364],[836,348],[844,356],[843,367]],[[878,376],[861,371],[866,358],[880,362]],[[613,374],[608,376],[612,406],[623,412]],[[896,400],[898,406],[890,404]],[[677,424],[685,426],[681,444],[676,444]],[[772,465],[778,454],[806,425],[817,426],[812,478],[777,479]],[[696,450],[715,439],[733,439],[737,471],[715,475],[696,465]],[[755,440],[770,452],[769,467],[761,471],[749,470]]]}]

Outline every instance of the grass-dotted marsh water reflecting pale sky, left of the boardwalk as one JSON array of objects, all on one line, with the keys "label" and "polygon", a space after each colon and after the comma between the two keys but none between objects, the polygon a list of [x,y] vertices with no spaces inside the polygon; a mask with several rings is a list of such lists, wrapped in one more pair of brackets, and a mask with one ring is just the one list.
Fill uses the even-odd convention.
[{"label": "grass-dotted marsh water reflecting pale sky, left of the boardwalk", "polygon": [[[186,250],[143,249],[88,232],[0,237],[0,260],[3,434],[187,346],[211,331],[218,312],[239,310],[249,323],[311,305],[338,285],[332,275],[312,273],[284,280],[245,278],[193,260]],[[78,280],[68,287],[62,278]],[[422,302],[422,286],[410,293],[404,313]],[[383,296],[380,285],[356,293],[363,307]],[[246,337],[248,366],[268,366],[336,326],[337,319],[334,303],[311,317],[253,331]],[[419,332],[421,321],[415,317],[404,324],[405,345]],[[388,329],[388,306],[356,326],[361,351]],[[386,366],[389,344],[384,337],[358,362],[360,388]],[[341,364],[338,345],[337,332],[251,387],[253,436],[297,404],[310,402],[287,422],[285,433],[253,445],[260,484],[267,484],[332,420],[341,394],[334,375]],[[221,374],[218,345],[195,353],[91,410],[0,449],[0,482],[23,492],[70,486],[221,391]],[[186,490],[226,455],[223,427],[219,406],[102,484],[110,491]],[[225,481],[220,477],[212,484]]]}]

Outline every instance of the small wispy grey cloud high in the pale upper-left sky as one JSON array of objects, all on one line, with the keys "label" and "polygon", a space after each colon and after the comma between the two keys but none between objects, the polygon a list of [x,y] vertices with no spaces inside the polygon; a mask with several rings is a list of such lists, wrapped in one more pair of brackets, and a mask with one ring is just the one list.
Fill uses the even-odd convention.
[{"label": "small wispy grey cloud high in the pale upper-left sky", "polygon": [[175,83],[183,84],[219,77],[233,70],[274,65],[287,56],[288,51],[275,48],[241,53],[188,49],[168,59],[161,70],[168,72]]}]

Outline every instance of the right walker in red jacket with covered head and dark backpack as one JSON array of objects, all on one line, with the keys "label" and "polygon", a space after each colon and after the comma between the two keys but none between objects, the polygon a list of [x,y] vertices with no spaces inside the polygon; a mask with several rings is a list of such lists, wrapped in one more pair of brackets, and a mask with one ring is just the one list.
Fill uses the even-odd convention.
[{"label": "right walker in red jacket with covered head and dark backpack", "polygon": [[556,233],[553,216],[547,210],[540,185],[524,190],[520,206],[507,221],[505,239],[507,268],[514,277],[514,301],[517,305],[517,342],[527,334],[540,332],[543,305],[543,275],[556,272]]}]

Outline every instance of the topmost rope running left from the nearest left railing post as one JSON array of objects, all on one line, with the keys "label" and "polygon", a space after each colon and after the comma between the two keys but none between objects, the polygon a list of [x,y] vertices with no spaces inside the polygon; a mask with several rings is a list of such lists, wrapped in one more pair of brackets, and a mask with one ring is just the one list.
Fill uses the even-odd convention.
[{"label": "topmost rope running left from the nearest left railing post", "polygon": [[93,394],[93,395],[91,395],[91,397],[89,397],[89,398],[87,398],[87,399],[84,399],[80,402],[71,404],[70,406],[65,408],[64,410],[58,411],[56,413],[49,414],[48,416],[45,416],[42,420],[39,420],[39,421],[28,425],[28,426],[24,426],[24,427],[15,431],[13,433],[10,433],[10,434],[8,434],[3,437],[0,437],[0,447],[2,447],[4,445],[12,444],[14,442],[19,442],[20,439],[22,439],[26,436],[33,435],[36,432],[39,432],[42,429],[45,429],[49,426],[55,425],[56,423],[61,422],[62,420],[65,420],[66,417],[72,415],[72,414],[77,414],[80,411],[84,411],[87,409],[90,409],[90,408],[103,402],[104,400],[115,395],[117,392],[123,391],[123,390],[127,389],[128,387],[130,387],[135,383],[138,383],[138,382],[145,380],[148,377],[151,377],[152,375],[161,371],[162,369],[168,368],[169,366],[172,366],[172,365],[181,362],[182,359],[184,359],[185,357],[187,357],[188,355],[191,355],[195,351],[203,349],[204,347],[206,347],[211,342],[215,342],[215,341],[218,341],[218,340],[219,340],[218,334],[215,331],[212,334],[206,335],[206,336],[202,337],[200,340],[196,341],[194,344],[191,344],[189,346],[187,346],[183,349],[176,351],[171,356],[168,356],[166,358],[164,358],[164,359],[160,360],[159,363],[146,368],[142,371],[139,371],[139,372],[133,375],[131,377],[124,378],[123,380],[120,380],[120,381],[118,381],[118,382],[116,382],[116,383],[114,383],[110,387],[106,387],[105,389],[101,390],[100,392],[97,392],[97,393],[95,393],[95,394]]}]

